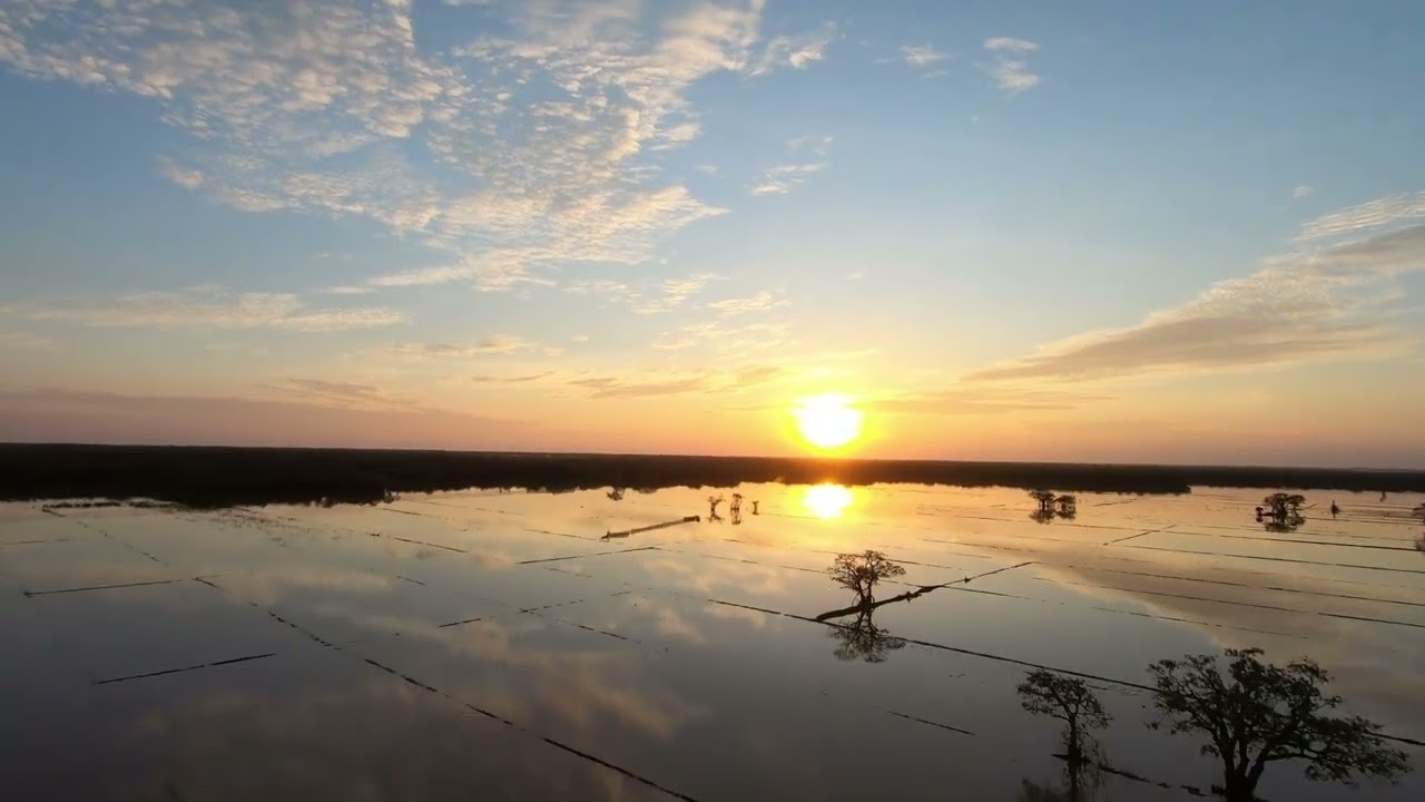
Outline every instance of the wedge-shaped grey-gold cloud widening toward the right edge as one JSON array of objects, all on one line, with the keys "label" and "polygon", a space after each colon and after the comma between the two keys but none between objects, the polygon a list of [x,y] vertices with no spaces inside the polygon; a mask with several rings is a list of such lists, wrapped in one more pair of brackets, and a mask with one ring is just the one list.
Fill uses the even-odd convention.
[{"label": "wedge-shaped grey-gold cloud widening toward the right edge", "polygon": [[[1399,227],[1406,208],[1372,201],[1314,220],[1302,231],[1311,250],[1271,257],[1137,325],[1062,340],[966,380],[1080,381],[1398,352],[1411,341],[1389,325],[1384,304],[1399,295],[1398,277],[1425,271],[1425,224]],[[1327,235],[1338,240],[1321,244]]]}]

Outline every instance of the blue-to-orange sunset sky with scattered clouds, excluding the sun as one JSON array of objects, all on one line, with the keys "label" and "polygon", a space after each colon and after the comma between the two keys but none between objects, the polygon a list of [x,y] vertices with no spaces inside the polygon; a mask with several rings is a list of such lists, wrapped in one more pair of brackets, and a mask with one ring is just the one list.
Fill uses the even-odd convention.
[{"label": "blue-to-orange sunset sky with scattered clouds, excluding the sun", "polygon": [[7,0],[0,440],[1425,468],[1415,0]]}]

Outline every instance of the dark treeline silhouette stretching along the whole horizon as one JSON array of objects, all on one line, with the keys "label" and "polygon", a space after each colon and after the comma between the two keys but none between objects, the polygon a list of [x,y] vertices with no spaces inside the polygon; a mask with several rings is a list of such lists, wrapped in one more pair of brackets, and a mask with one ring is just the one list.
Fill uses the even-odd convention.
[{"label": "dark treeline silhouette stretching along the whole horizon", "polygon": [[128,445],[0,445],[0,499],[155,498],[194,507],[380,501],[389,492],[737,487],[741,482],[1056,487],[1184,494],[1193,485],[1425,492],[1422,471],[496,454]]}]

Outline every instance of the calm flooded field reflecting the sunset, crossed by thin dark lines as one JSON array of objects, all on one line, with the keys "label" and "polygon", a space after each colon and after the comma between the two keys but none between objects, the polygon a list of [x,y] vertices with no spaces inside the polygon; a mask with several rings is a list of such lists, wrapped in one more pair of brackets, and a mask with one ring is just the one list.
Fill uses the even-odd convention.
[{"label": "calm flooded field reflecting the sunset, crossed by thin dark lines", "polygon": [[[1352,795],[1273,763],[1263,798],[1425,798],[1422,497],[1311,492],[1282,527],[1264,491],[1040,519],[1013,489],[731,492],[717,519],[705,489],[0,505],[4,789],[1066,799],[1060,722],[1016,695],[1050,669],[1113,718],[1086,798],[1188,799],[1221,766],[1146,726],[1147,666],[1260,646],[1322,664],[1416,766]],[[858,611],[826,569],[866,549],[905,574]]]}]

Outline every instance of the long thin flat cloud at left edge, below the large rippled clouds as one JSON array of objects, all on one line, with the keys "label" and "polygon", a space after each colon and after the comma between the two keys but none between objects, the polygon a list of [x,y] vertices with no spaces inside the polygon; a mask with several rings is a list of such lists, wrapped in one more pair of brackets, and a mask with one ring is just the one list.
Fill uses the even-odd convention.
[{"label": "long thin flat cloud at left edge, below the large rippled clouds", "polygon": [[285,293],[232,293],[219,288],[134,293],[95,303],[0,305],[0,315],[60,321],[94,328],[274,328],[296,333],[376,328],[405,321],[386,308],[308,308]]}]

